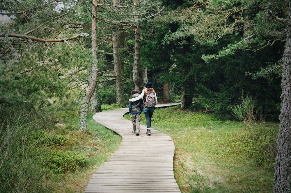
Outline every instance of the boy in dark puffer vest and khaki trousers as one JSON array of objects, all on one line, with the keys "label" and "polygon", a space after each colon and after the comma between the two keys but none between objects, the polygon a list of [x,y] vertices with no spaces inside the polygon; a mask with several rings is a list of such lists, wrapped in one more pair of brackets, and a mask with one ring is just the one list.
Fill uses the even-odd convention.
[{"label": "boy in dark puffer vest and khaki trousers", "polygon": [[[137,90],[132,90],[131,92],[132,98],[139,96]],[[141,111],[143,110],[143,99],[139,99],[134,102],[129,103],[129,112],[131,113],[131,121],[132,121],[132,133],[139,135],[140,127],[139,122],[141,121]]]}]

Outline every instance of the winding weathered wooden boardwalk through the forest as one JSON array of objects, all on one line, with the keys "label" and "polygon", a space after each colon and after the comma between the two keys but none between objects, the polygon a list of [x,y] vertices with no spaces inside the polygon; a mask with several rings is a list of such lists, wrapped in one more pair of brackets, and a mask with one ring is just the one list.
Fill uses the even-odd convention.
[{"label": "winding weathered wooden boardwalk through the forest", "polygon": [[[161,104],[157,107],[175,104]],[[119,148],[93,174],[86,192],[181,193],[174,178],[174,143],[168,135],[141,125],[134,135],[128,108],[99,112],[93,119],[122,136]],[[144,115],[142,115],[144,116]],[[155,116],[155,113],[153,117]]]}]

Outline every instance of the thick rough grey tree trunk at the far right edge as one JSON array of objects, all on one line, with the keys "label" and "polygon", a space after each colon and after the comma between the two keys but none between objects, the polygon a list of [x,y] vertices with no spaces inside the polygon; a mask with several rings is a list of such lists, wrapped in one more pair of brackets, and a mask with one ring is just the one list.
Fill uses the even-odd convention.
[{"label": "thick rough grey tree trunk at the far right edge", "polygon": [[[289,3],[288,21],[291,21]],[[274,193],[291,192],[291,27],[287,28],[286,46],[283,55],[282,103],[279,116],[278,153],[274,180]]]}]

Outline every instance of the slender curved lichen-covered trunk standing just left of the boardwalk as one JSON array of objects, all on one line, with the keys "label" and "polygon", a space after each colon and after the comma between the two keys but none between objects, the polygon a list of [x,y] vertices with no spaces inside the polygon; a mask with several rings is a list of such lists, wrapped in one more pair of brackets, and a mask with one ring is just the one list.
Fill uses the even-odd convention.
[{"label": "slender curved lichen-covered trunk standing just left of the boardwalk", "polygon": [[[96,14],[97,14],[97,0],[93,0],[93,10],[92,10],[93,16],[92,16],[92,35],[91,35],[91,41],[92,41],[92,55],[94,56],[94,61],[92,65],[92,75],[89,79],[89,89],[88,91],[83,95],[83,103],[81,107],[81,116],[80,116],[80,122],[79,122],[79,131],[84,131],[87,129],[87,119],[88,119],[88,108],[90,99],[93,96],[93,93],[95,91],[96,87],[96,81],[97,81],[97,58],[96,58]],[[93,44],[95,44],[95,49]]]}]

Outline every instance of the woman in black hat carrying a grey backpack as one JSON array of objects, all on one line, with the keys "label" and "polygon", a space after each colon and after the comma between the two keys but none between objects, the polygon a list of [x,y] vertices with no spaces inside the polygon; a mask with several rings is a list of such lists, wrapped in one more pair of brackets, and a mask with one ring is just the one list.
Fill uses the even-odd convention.
[{"label": "woman in black hat carrying a grey backpack", "polygon": [[146,134],[150,135],[150,126],[152,125],[152,114],[157,104],[157,95],[153,89],[152,82],[147,82],[141,94],[135,98],[129,99],[130,102],[137,101],[143,98],[143,112],[145,114],[147,131]]}]

